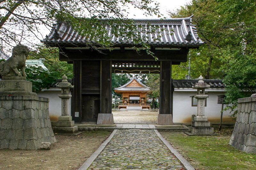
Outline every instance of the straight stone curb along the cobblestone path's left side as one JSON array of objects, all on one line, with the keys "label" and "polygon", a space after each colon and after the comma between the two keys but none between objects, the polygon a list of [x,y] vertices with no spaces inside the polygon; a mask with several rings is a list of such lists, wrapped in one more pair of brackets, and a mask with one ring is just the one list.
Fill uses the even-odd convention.
[{"label": "straight stone curb along the cobblestone path's left side", "polygon": [[116,134],[116,131],[118,129],[115,129],[111,135],[108,137],[107,140],[105,140],[105,142],[103,142],[100,147],[90,156],[90,158],[88,158],[84,164],[78,169],[78,170],[86,170],[87,168],[89,168],[89,166],[92,164],[92,162],[94,161],[94,159],[97,158],[97,156],[100,154],[100,152],[105,148],[105,146],[108,144],[108,142],[112,139],[112,137],[114,137],[114,135]]}]

